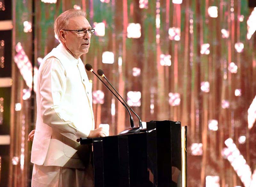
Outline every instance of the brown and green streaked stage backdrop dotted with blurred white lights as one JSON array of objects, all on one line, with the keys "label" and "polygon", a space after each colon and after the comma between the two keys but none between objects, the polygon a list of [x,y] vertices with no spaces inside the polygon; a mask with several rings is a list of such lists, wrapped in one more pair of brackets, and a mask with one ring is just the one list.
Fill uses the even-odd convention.
[{"label": "brown and green streaked stage backdrop dotted with blurred white lights", "polygon": [[[59,44],[54,19],[70,8],[84,10],[96,30],[84,64],[102,69],[142,121],[188,126],[188,186],[256,185],[256,9],[247,0],[12,2],[9,185],[30,185],[32,73]],[[87,74],[95,128],[109,124],[110,135],[128,128],[124,107]]]}]

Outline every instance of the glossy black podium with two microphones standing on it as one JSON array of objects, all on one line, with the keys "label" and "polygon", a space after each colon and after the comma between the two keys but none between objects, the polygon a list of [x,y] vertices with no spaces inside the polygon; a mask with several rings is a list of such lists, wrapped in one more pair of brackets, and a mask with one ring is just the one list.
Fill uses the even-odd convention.
[{"label": "glossy black podium with two microphones standing on it", "polygon": [[80,138],[80,144],[93,145],[95,186],[177,186],[174,169],[186,186],[184,133],[182,141],[180,122],[150,121],[145,132]]}]

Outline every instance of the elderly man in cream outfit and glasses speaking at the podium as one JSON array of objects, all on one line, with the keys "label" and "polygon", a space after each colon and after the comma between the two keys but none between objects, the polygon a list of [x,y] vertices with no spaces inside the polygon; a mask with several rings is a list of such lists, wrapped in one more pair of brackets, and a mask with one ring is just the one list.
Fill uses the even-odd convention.
[{"label": "elderly man in cream outfit and glasses speaking at the podium", "polygon": [[60,14],[54,31],[61,43],[39,67],[32,186],[93,186],[91,147],[77,139],[108,136],[108,131],[94,130],[92,83],[80,59],[94,33],[85,16],[73,9]]}]

